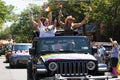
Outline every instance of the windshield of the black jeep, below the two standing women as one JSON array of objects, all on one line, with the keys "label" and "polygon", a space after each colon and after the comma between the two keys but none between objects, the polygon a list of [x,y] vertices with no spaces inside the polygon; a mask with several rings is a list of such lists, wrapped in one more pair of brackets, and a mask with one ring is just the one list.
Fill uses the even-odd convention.
[{"label": "windshield of the black jeep, below the two standing women", "polygon": [[40,38],[37,45],[40,53],[90,53],[86,37],[49,37]]}]

